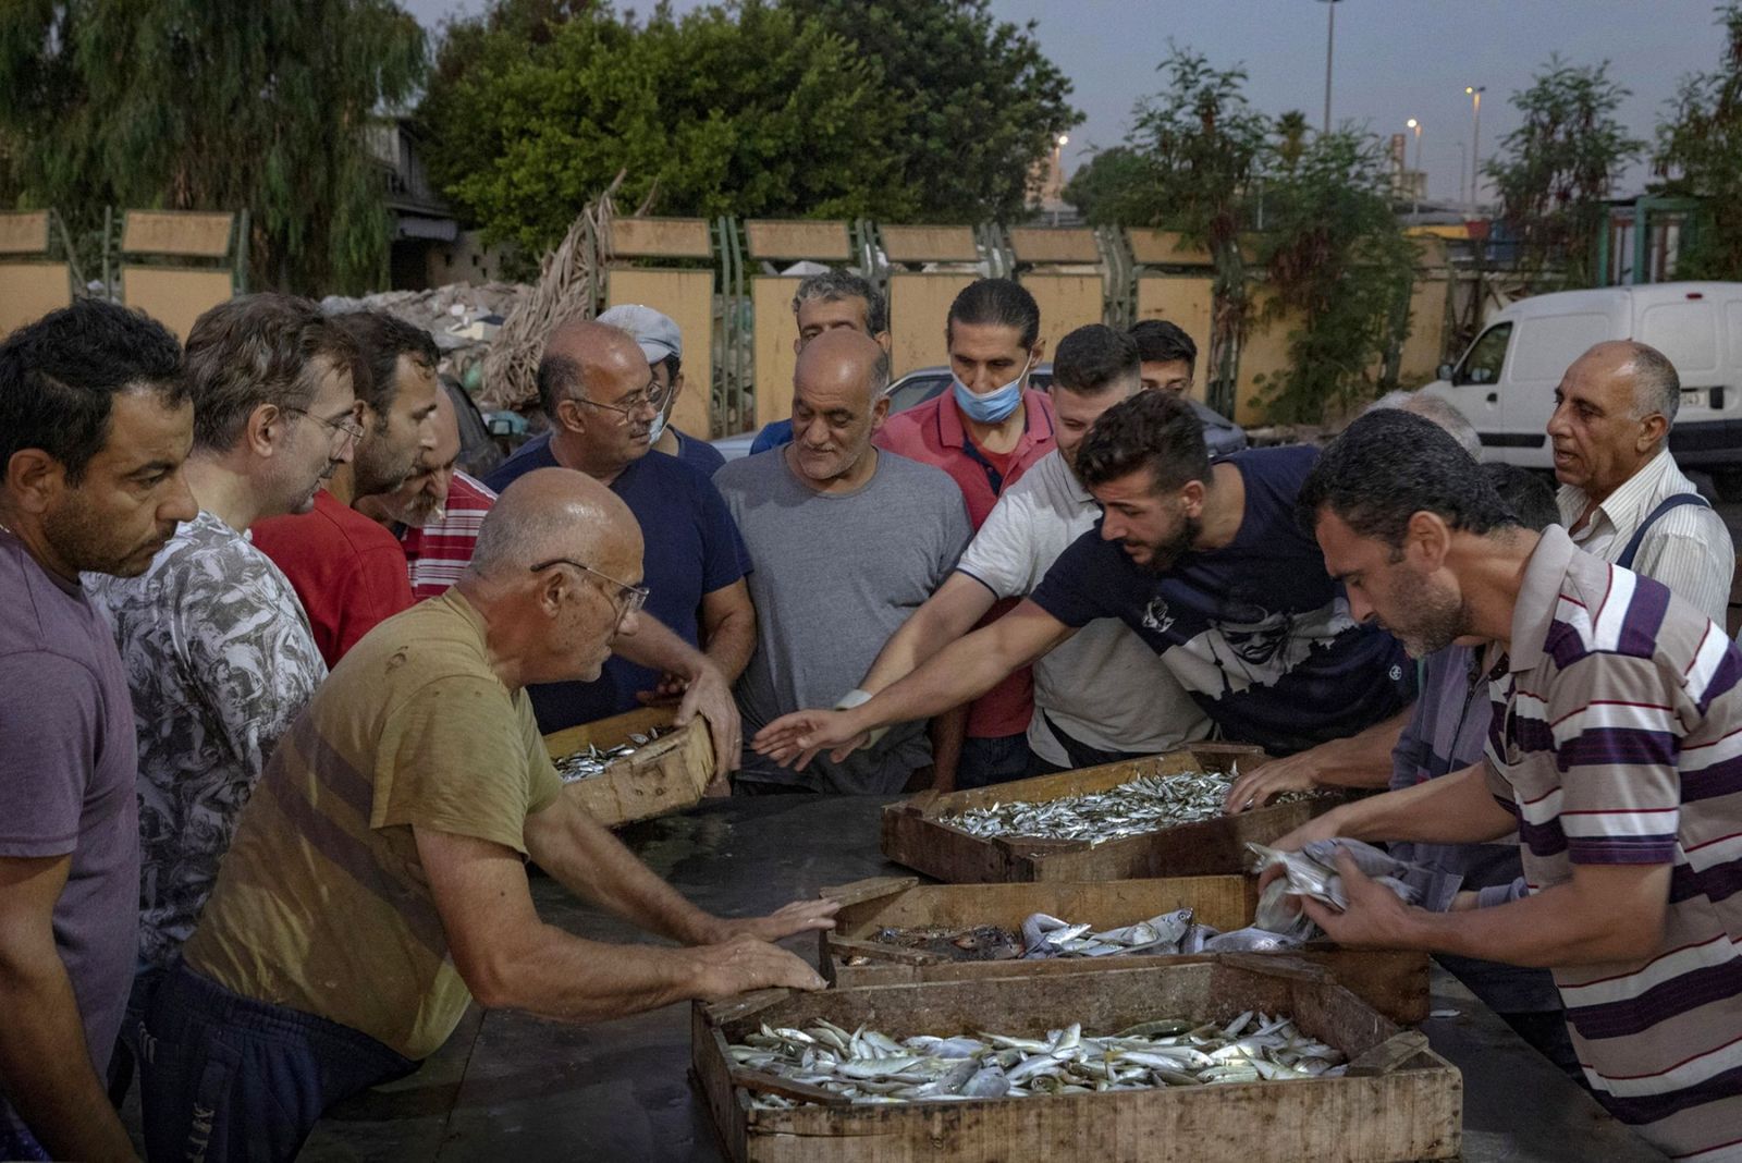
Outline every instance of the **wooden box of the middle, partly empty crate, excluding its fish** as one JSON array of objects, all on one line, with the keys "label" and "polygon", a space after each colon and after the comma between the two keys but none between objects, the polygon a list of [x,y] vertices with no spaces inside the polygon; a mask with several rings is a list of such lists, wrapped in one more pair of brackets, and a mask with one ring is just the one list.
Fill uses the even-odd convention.
[{"label": "wooden box of the middle, partly empty crate, excluding its fish", "polygon": [[[1035,912],[1068,921],[1090,921],[1097,930],[1136,924],[1174,909],[1192,909],[1200,924],[1223,931],[1246,928],[1258,907],[1258,877],[1183,876],[1146,881],[1043,881],[1038,884],[920,884],[911,876],[881,876],[820,897],[841,902],[834,931],[817,935],[822,975],[841,987],[901,982],[948,982],[1010,977],[1012,973],[1085,973],[1108,965],[1103,958],[1047,958],[1042,961],[953,961],[918,949],[876,940],[881,928],[970,928],[998,924],[1021,930]],[[1150,956],[1138,965],[1185,965],[1218,954]],[[1223,954],[1225,956],[1225,954]],[[1340,949],[1315,942],[1301,949],[1242,954],[1259,959],[1289,958],[1320,966],[1350,992],[1402,1025],[1418,1025],[1428,1012],[1428,959],[1425,952],[1397,949]],[[859,961],[859,965],[854,965]]]}]

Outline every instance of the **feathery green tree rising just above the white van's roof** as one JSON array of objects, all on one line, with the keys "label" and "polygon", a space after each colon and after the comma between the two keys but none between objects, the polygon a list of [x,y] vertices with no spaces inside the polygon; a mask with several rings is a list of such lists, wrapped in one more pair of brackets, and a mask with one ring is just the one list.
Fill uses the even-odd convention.
[{"label": "feathery green tree rising just above the white van's roof", "polygon": [[1500,139],[1502,157],[1482,167],[1528,277],[1557,266],[1566,286],[1594,282],[1603,198],[1646,145],[1615,118],[1629,91],[1608,70],[1608,61],[1575,66],[1549,57],[1531,87],[1512,94],[1523,124]]}]

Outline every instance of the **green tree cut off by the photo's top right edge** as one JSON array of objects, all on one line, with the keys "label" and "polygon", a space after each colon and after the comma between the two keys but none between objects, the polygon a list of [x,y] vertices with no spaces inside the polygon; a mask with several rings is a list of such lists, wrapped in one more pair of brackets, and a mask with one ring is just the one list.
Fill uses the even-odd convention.
[{"label": "green tree cut off by the photo's top right edge", "polygon": [[1664,193],[1704,200],[1676,258],[1681,279],[1742,279],[1742,3],[1719,9],[1718,23],[1718,70],[1683,78],[1651,158]]}]

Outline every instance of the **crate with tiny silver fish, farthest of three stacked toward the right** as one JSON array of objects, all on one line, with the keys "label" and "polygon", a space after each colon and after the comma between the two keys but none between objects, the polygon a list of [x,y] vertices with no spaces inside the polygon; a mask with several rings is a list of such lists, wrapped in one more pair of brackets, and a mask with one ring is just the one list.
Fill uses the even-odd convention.
[{"label": "crate with tiny silver fish, farthest of three stacked toward the right", "polygon": [[1190,750],[1016,780],[922,792],[883,810],[883,855],[949,883],[1104,881],[1244,872],[1266,844],[1329,811],[1334,796],[1289,796],[1225,815],[1256,747]]}]

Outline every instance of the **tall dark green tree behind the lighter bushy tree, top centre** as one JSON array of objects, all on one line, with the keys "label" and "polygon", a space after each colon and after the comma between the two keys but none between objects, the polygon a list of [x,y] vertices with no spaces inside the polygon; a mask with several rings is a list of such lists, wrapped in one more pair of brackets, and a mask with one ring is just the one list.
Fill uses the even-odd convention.
[{"label": "tall dark green tree behind the lighter bushy tree, top centre", "polygon": [[1035,21],[991,16],[989,0],[786,0],[878,61],[897,181],[935,223],[1019,219],[1030,169],[1084,115],[1040,49]]}]

